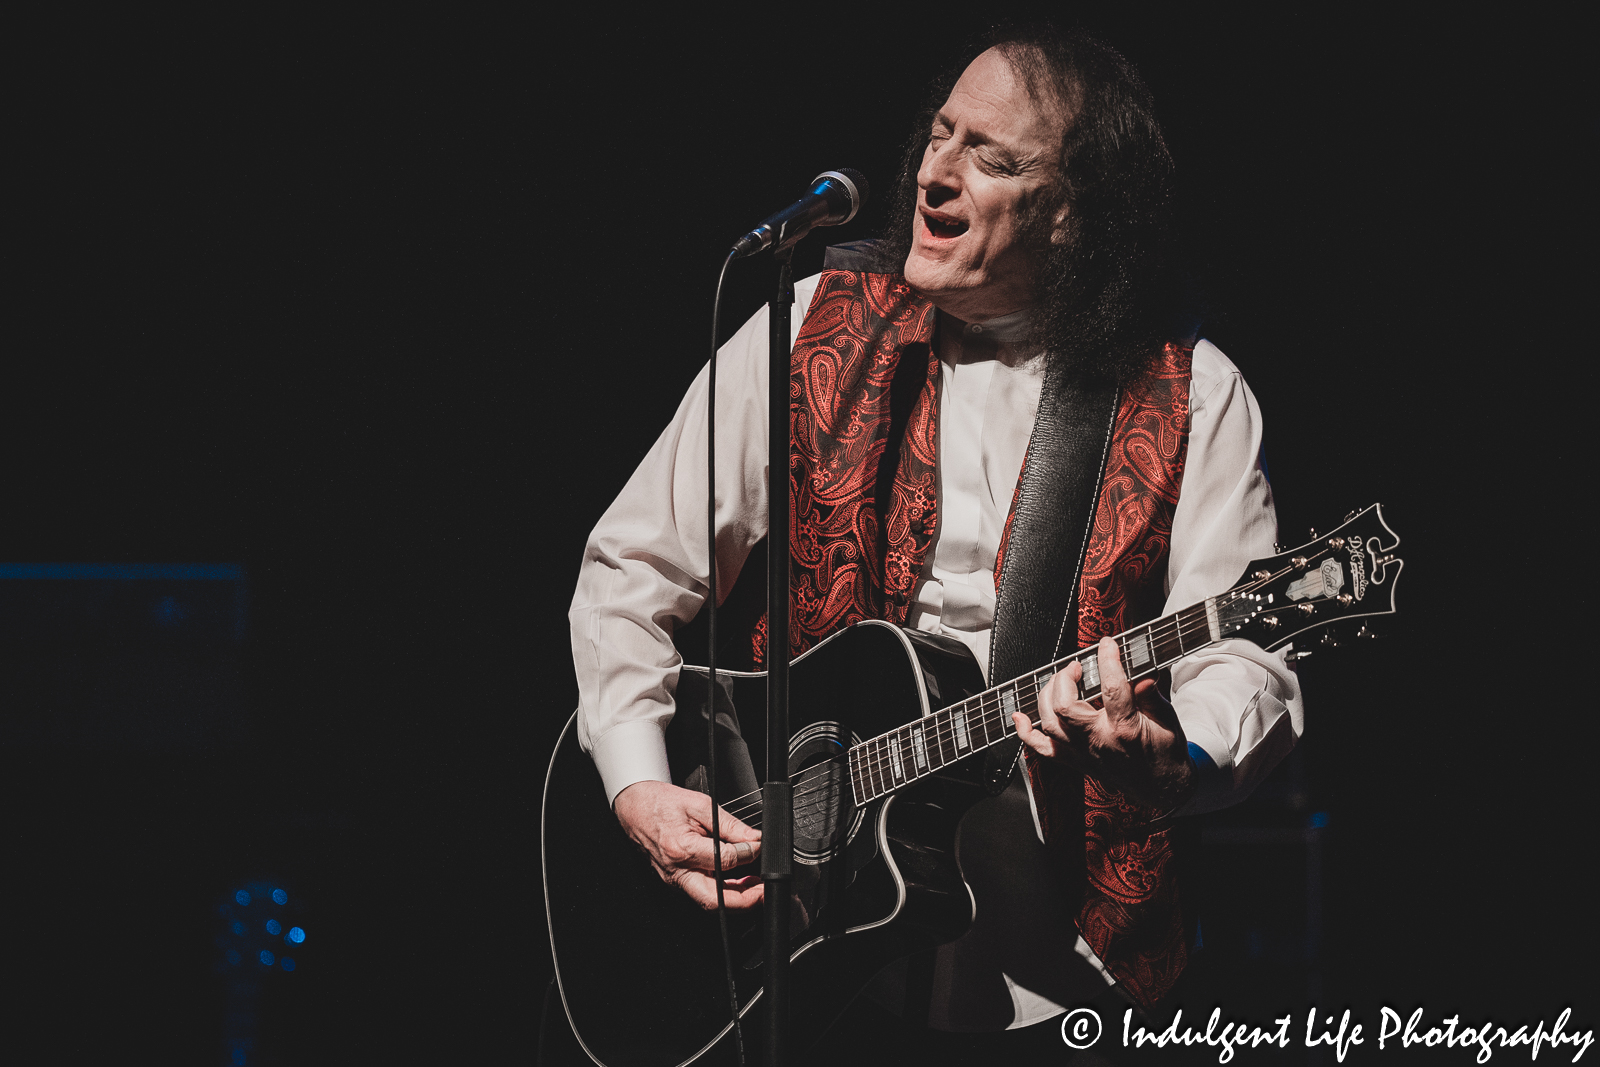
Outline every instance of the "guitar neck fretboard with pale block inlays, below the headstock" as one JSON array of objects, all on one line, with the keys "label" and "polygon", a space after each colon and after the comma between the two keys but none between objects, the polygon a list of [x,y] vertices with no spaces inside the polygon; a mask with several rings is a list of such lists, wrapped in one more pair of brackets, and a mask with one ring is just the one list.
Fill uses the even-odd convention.
[{"label": "guitar neck fretboard with pale block inlays, below the headstock", "polygon": [[[1123,673],[1130,681],[1147,678],[1174,661],[1222,638],[1218,601],[1174,611],[1117,637]],[[1013,712],[1038,723],[1038,693],[1056,672],[1077,661],[1083,669],[1080,691],[1085,701],[1101,694],[1099,648],[1091,646],[986,689],[958,704],[925,715],[914,723],[864,741],[850,750],[850,782],[862,805],[936,774],[957,760],[982,752],[1016,736]]]}]

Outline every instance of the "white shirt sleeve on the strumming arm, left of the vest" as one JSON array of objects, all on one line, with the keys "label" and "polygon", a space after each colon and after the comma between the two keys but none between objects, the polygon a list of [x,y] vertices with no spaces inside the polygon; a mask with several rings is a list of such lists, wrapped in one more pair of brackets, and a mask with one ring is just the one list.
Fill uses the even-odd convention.
[{"label": "white shirt sleeve on the strumming arm, left of the vest", "polygon": [[[795,283],[790,342],[816,278]],[[717,590],[733,589],[766,534],[766,309],[717,355]],[[709,590],[706,402],[701,368],[672,422],[595,525],[568,613],[578,673],[578,742],[606,801],[640,781],[672,781],[666,728],[682,659],[674,630]]]}]

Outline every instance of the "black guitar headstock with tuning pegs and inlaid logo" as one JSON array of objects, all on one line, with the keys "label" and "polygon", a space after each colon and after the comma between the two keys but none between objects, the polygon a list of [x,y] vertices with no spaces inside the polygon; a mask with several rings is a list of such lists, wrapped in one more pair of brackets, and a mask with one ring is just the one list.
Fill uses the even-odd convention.
[{"label": "black guitar headstock with tuning pegs and inlaid logo", "polygon": [[1352,512],[1328,534],[1251,561],[1234,589],[1216,598],[1218,629],[1272,649],[1307,630],[1394,614],[1405,566],[1394,552],[1398,545],[1381,504]]}]

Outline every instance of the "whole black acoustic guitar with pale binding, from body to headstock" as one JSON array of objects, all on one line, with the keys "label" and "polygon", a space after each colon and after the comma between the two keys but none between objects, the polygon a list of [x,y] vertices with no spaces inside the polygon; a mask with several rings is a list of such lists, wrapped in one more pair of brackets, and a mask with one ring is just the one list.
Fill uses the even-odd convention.
[{"label": "whole black acoustic guitar with pale binding, from body to headstock", "polygon": [[[1224,638],[1272,649],[1390,614],[1398,542],[1379,506],[1352,514],[1331,534],[1253,561],[1226,593],[1122,633],[1123,669],[1138,680]],[[794,661],[797,1038],[821,1035],[888,963],[966,931],[974,904],[954,840],[960,816],[986,795],[979,753],[1016,736],[1013,710],[1037,721],[1040,686],[1072,659],[1083,667],[1085,699],[1094,699],[1094,648],[992,688],[958,641],[888,622],[853,625]],[[765,675],[718,681],[718,800],[760,827],[749,750],[765,752]],[[683,669],[667,731],[674,781],[702,790],[706,686],[704,669]],[[718,1043],[725,1053],[733,1024],[717,917],[662,883],[626,837],[573,720],[546,777],[542,832],[562,1003],[589,1056],[603,1067],[672,1067]],[[758,1041],[763,1013],[750,1006],[763,977],[760,909],[730,912],[730,925],[746,1040]]]}]

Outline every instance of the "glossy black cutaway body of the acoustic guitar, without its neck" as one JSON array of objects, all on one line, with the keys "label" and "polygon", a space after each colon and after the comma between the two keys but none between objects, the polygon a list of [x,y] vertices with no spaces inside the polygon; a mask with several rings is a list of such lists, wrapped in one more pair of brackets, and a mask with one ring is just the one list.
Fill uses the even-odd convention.
[{"label": "glossy black cutaway body of the acoustic guitar, without its neck", "polygon": [[[718,801],[758,824],[749,752],[766,750],[766,677],[720,680]],[[683,669],[667,731],[674,781],[701,790],[706,685],[704,670]],[[982,688],[960,643],[886,622],[842,630],[790,664],[797,1040],[818,1038],[883,966],[966,931],[973,897],[955,864],[955,827],[986,795],[978,760],[968,758],[858,809],[842,761],[822,761]],[[819,769],[808,776],[808,768]],[[566,1016],[589,1056],[605,1067],[674,1067],[707,1054],[731,1061],[717,913],[661,881],[622,833],[578,745],[576,717],[550,760],[542,832],[550,949]],[[760,1041],[765,1017],[752,1011],[763,979],[762,907],[728,912],[747,1045]]]}]

